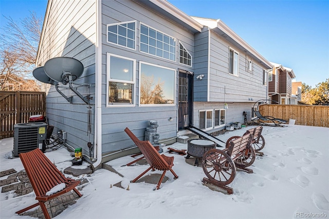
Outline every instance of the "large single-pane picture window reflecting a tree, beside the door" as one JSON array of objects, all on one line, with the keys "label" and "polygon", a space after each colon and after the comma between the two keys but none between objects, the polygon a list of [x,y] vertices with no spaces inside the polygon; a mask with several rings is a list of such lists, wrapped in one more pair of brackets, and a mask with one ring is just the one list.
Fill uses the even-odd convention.
[{"label": "large single-pane picture window reflecting a tree, beside the door", "polygon": [[140,62],[139,103],[141,105],[174,105],[176,71]]}]

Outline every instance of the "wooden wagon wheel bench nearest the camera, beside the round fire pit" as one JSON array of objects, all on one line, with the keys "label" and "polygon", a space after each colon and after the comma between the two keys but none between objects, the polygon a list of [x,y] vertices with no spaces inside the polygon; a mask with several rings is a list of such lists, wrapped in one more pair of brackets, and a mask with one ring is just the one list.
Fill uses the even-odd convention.
[{"label": "wooden wagon wheel bench nearest the camera, beside the round fire pit", "polygon": [[251,147],[253,135],[245,134],[242,137],[233,139],[229,147],[224,150],[211,149],[202,158],[202,168],[206,174],[203,182],[218,186],[228,192],[233,193],[233,189],[228,187],[236,175],[236,168],[252,173],[251,166],[255,161],[255,151]]}]

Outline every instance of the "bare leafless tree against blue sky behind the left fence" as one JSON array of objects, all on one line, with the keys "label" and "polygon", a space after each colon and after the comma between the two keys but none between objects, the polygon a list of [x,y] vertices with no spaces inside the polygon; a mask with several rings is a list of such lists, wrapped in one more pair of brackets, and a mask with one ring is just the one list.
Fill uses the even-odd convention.
[{"label": "bare leafless tree against blue sky behind the left fence", "polygon": [[42,19],[37,17],[35,12],[30,12],[20,23],[11,17],[5,19],[7,23],[0,35],[1,89],[8,85],[10,78],[34,79],[31,73],[35,67],[42,31]]}]

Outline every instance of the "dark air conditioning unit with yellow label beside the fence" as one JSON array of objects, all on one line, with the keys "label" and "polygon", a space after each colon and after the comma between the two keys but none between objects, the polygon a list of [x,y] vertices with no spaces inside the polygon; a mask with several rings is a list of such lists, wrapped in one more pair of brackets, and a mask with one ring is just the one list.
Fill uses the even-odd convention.
[{"label": "dark air conditioning unit with yellow label beside the fence", "polygon": [[13,156],[29,152],[36,148],[43,148],[44,140],[47,139],[47,123],[17,123],[14,124],[14,149]]}]

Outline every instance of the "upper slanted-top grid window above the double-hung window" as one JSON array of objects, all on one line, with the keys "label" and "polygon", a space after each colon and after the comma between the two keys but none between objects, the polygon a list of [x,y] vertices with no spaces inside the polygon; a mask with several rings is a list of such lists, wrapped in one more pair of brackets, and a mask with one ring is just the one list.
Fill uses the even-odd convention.
[{"label": "upper slanted-top grid window above the double-hung window", "polygon": [[107,42],[136,48],[136,21],[107,25]]}]

